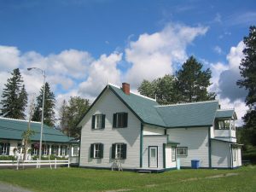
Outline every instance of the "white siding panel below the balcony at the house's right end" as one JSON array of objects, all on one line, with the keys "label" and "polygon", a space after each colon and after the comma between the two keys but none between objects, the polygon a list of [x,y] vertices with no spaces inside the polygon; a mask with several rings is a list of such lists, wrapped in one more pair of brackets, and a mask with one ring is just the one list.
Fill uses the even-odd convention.
[{"label": "white siding panel below the balcony at the house's right end", "polygon": [[212,168],[229,168],[230,143],[212,140]]}]

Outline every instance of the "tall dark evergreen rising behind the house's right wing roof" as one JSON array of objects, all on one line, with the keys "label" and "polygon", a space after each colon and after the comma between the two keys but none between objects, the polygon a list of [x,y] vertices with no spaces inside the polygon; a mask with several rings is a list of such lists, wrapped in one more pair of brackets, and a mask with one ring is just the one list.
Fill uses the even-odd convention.
[{"label": "tall dark evergreen rising behind the house's right wing roof", "polygon": [[200,102],[215,99],[215,93],[208,93],[212,72],[209,68],[202,71],[202,64],[190,56],[177,72],[177,89],[181,102]]}]

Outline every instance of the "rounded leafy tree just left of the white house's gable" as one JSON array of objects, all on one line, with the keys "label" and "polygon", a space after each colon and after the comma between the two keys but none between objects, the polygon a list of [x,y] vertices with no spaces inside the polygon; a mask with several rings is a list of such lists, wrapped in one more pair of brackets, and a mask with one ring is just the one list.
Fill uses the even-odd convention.
[{"label": "rounded leafy tree just left of the white house's gable", "polygon": [[90,107],[89,100],[80,96],[71,96],[68,105],[65,102],[61,106],[61,130],[69,137],[79,137],[81,128],[79,120]]}]

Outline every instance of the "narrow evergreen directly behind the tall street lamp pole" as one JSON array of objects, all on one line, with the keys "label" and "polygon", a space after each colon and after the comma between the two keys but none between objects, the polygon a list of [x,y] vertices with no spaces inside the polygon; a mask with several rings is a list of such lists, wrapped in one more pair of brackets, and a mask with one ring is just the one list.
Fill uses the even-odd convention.
[{"label": "narrow evergreen directly behind the tall street lamp pole", "polygon": [[[45,92],[44,92],[45,91]],[[32,120],[41,121],[42,107],[43,107],[43,94],[44,94],[44,124],[53,126],[55,125],[55,95],[50,90],[49,84],[45,83],[45,90],[42,86],[39,96],[37,97],[37,105],[32,115]]]}]

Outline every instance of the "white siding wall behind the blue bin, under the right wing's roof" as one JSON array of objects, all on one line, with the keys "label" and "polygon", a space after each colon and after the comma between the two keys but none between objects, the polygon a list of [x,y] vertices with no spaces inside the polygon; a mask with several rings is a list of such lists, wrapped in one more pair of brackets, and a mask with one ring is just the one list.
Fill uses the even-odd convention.
[{"label": "white siding wall behind the blue bin, under the right wing's roof", "polygon": [[171,141],[180,143],[177,147],[188,147],[187,156],[177,156],[181,166],[191,166],[191,160],[200,160],[201,167],[209,167],[208,127],[169,129],[167,134]]}]

